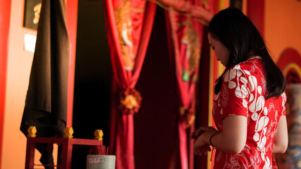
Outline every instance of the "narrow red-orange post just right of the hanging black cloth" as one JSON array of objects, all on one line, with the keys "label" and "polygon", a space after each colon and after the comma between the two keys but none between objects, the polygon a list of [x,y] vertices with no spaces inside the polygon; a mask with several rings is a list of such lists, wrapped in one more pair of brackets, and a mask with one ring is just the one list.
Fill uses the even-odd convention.
[{"label": "narrow red-orange post just right of the hanging black cloth", "polygon": [[69,58],[69,71],[68,71],[67,127],[71,127],[72,116],[73,116],[76,32],[77,32],[77,25],[78,25],[78,0],[67,0],[66,20],[67,20],[66,22],[67,22],[69,43],[70,43],[70,58]]}]

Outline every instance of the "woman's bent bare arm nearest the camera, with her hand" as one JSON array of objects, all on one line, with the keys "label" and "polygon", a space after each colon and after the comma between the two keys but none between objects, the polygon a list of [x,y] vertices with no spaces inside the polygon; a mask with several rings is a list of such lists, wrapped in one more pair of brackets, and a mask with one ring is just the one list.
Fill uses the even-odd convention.
[{"label": "woman's bent bare arm nearest the camera, with her hand", "polygon": [[[199,154],[198,149],[204,144],[210,144],[209,139],[215,132],[208,130],[195,141],[194,151]],[[247,118],[242,115],[228,116],[223,120],[223,132],[211,138],[211,144],[221,151],[238,154],[245,147],[247,140]]]}]

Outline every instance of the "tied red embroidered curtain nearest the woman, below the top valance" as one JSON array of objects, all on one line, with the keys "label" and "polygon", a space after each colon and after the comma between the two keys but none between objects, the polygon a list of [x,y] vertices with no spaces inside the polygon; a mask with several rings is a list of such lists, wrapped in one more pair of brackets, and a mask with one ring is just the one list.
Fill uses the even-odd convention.
[{"label": "tied red embroidered curtain nearest the woman, below the top valance", "polygon": [[192,100],[195,94],[204,26],[173,11],[168,12],[168,18],[181,104],[178,118],[180,165],[186,169],[188,168],[186,128],[190,127],[195,118]]}]

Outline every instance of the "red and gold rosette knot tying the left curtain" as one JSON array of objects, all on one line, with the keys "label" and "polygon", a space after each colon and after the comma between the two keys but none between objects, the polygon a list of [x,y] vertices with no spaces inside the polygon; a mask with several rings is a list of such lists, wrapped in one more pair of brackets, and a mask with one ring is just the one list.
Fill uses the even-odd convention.
[{"label": "red and gold rosette knot tying the left curtain", "polygon": [[142,97],[136,89],[125,89],[119,92],[119,108],[122,113],[134,114],[138,113]]}]

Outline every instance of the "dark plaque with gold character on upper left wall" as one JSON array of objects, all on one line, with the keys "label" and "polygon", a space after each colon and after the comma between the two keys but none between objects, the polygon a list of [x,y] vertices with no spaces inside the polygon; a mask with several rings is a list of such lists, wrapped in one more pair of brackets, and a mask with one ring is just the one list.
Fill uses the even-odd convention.
[{"label": "dark plaque with gold character on upper left wall", "polygon": [[37,30],[42,0],[25,0],[23,27]]}]

